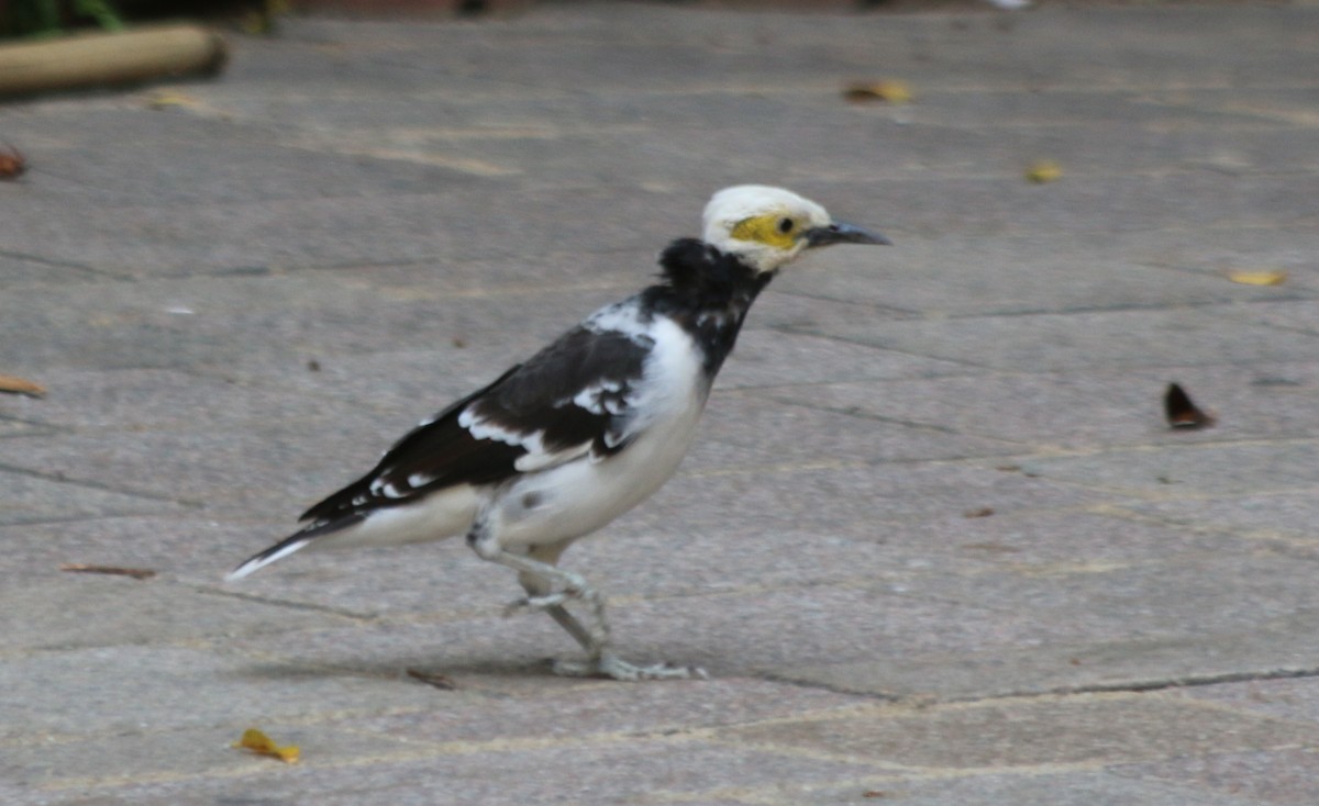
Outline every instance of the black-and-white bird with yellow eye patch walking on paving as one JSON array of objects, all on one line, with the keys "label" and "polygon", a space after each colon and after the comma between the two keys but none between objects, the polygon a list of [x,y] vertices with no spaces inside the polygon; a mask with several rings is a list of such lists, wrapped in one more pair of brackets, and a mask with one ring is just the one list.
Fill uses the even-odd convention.
[{"label": "black-and-white bird with yellow eye patch walking on paving", "polygon": [[[641,292],[605,306],[488,386],[400,439],[379,464],[302,514],[305,525],[228,579],[302,549],[466,536],[477,557],[517,573],[525,598],[586,652],[553,672],[623,681],[706,677],[638,665],[613,649],[604,598],[558,566],[575,540],[658,490],[691,446],[700,414],[757,295],[809,249],[886,245],[789,190],[718,191],[702,238],[678,238]],[[588,611],[588,623],[567,604]]]}]

